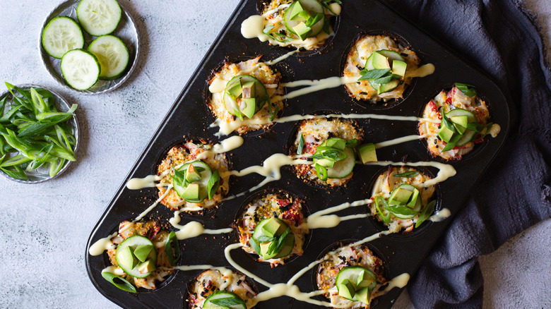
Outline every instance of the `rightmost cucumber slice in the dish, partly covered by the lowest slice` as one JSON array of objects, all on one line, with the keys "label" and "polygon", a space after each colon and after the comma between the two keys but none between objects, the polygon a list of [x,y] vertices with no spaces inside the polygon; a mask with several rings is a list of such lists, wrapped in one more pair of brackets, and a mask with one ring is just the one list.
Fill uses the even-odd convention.
[{"label": "rightmost cucumber slice in the dish, partly covered by the lowest slice", "polygon": [[124,43],[113,35],[102,35],[88,46],[88,52],[100,61],[100,79],[114,80],[119,78],[129,62],[129,52]]}]

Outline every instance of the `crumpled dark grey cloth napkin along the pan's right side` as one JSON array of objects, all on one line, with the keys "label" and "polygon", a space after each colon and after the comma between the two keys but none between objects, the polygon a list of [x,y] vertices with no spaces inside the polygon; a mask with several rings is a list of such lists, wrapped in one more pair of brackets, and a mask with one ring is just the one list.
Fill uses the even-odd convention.
[{"label": "crumpled dark grey cloth napkin along the pan's right side", "polygon": [[480,308],[478,256],[551,217],[551,72],[538,25],[513,0],[386,2],[513,98],[502,152],[408,284],[415,308]]}]

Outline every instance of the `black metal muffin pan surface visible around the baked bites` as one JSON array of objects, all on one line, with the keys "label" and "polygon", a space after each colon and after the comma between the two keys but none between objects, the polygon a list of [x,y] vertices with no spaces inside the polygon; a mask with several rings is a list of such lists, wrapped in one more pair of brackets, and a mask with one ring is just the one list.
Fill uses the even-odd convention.
[{"label": "black metal muffin pan surface visible around the baked bites", "polygon": [[[219,68],[225,60],[244,60],[263,55],[263,61],[268,61],[292,50],[291,48],[272,47],[268,42],[242,37],[241,23],[245,18],[258,14],[258,5],[256,0],[249,0],[242,1],[237,6],[189,83],[160,123],[153,139],[146,145],[146,149],[143,150],[128,176],[121,179],[122,184],[117,194],[90,234],[85,253],[88,275],[97,290],[117,305],[124,308],[186,308],[186,284],[201,271],[177,271],[161,284],[160,289],[140,290],[136,294],[126,293],[105,281],[101,276],[102,269],[109,266],[107,254],[91,256],[88,254],[88,248],[98,239],[117,231],[119,222],[134,219],[158,198],[156,188],[128,190],[124,185],[129,178],[141,178],[149,174],[156,174],[157,165],[170,147],[182,143],[186,138],[206,138],[213,143],[218,142],[218,138],[214,136],[216,128],[208,128],[213,123],[214,117],[206,106],[207,80],[211,77],[213,69]],[[386,34],[396,37],[396,40],[410,45],[420,57],[422,64],[433,63],[436,71],[425,78],[415,78],[403,100],[384,107],[373,106],[369,102],[358,102],[348,96],[344,86],[340,86],[288,99],[285,102],[286,107],[282,116],[324,111],[338,111],[343,114],[372,113],[420,116],[425,104],[440,90],[451,87],[455,82],[475,85],[479,95],[490,107],[491,120],[494,123],[499,123],[502,131],[497,138],[486,138],[484,143],[477,145],[473,152],[464,156],[463,160],[449,163],[455,167],[457,174],[437,185],[436,196],[439,198],[438,207],[448,208],[453,217],[468,197],[470,189],[473,188],[504,143],[509,131],[509,102],[511,100],[485,73],[463,61],[453,51],[446,49],[433,37],[422,32],[408,20],[393,12],[386,4],[377,0],[345,1],[341,15],[334,20],[334,28],[336,35],[318,52],[295,54],[273,66],[282,74],[283,82],[340,75],[350,44],[360,33]],[[364,129],[367,142],[378,143],[404,135],[417,134],[417,123],[414,121],[363,119],[358,120],[357,123]],[[244,145],[227,155],[232,168],[241,170],[253,164],[261,164],[264,159],[275,152],[287,153],[290,135],[296,131],[296,126],[297,123],[293,122],[275,123],[269,131],[244,135]],[[379,160],[394,162],[402,160],[442,162],[442,160],[434,159],[429,155],[421,140],[381,148],[377,150],[377,157]],[[280,181],[268,183],[267,186],[257,191],[288,190],[289,193],[302,198],[307,203],[309,213],[314,213],[343,202],[369,198],[372,183],[383,170],[384,168],[381,166],[357,164],[354,176],[348,186],[324,188],[304,183],[293,174],[290,167],[286,166],[282,169],[283,177]],[[432,167],[422,170],[433,176],[438,171]],[[262,180],[263,177],[257,174],[232,178],[229,195],[248,190]],[[181,214],[181,224],[195,220],[204,224],[207,229],[228,227],[235,222],[235,218],[242,210],[243,203],[255,193],[227,200],[219,206],[218,210],[206,212],[203,215]],[[351,207],[338,212],[338,214],[342,216],[360,212],[367,212],[367,207]],[[172,212],[163,205],[158,205],[148,214],[148,218],[160,218],[162,222],[167,222],[170,217],[172,217]],[[382,236],[367,243],[367,246],[384,260],[385,275],[388,279],[404,272],[413,275],[449,222],[451,222],[451,217],[444,222],[429,222],[409,234]],[[239,265],[271,283],[286,282],[293,274],[308,265],[309,262],[316,260],[321,253],[326,252],[326,248],[333,248],[336,243],[341,241],[347,243],[347,240],[362,239],[383,229],[384,226],[375,222],[371,217],[344,222],[333,229],[314,229],[309,235],[304,255],[273,269],[268,263],[254,261],[240,249],[232,251],[232,257]],[[223,250],[225,246],[237,241],[235,232],[222,235],[203,235],[180,241],[183,252],[179,264],[210,264],[230,267],[225,260]],[[315,282],[312,281],[312,272],[315,269],[316,267],[296,282],[301,291],[316,289]],[[258,283],[256,285],[259,291],[266,290],[265,286]],[[401,289],[391,290],[386,295],[379,297],[373,308],[391,307],[400,293]],[[323,297],[320,296],[318,299],[320,298]],[[256,308],[315,307],[286,296],[273,298],[256,306]]]}]

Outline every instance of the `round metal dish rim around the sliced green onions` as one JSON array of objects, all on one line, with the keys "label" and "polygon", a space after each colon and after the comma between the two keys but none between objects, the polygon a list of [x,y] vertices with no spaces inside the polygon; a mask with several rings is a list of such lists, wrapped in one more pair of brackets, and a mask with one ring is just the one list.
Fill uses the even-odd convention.
[{"label": "round metal dish rim around the sliced green onions", "polygon": [[[61,95],[59,95],[59,93],[55,92],[52,89],[49,89],[48,87],[44,87],[44,86],[41,86],[41,85],[35,85],[35,84],[23,84],[23,85],[16,85],[16,86],[20,87],[21,89],[29,89],[30,87],[33,87],[33,88],[42,88],[44,90],[48,90],[49,92],[52,92],[52,95],[54,95],[54,98],[56,99],[56,107],[59,109],[59,111],[68,111],[71,108],[69,103],[63,97],[61,97]],[[6,97],[6,96],[11,97],[11,93],[7,90],[5,92],[2,92],[2,94],[0,95],[0,99],[4,99],[4,97]],[[8,98],[8,100],[9,100],[9,98]],[[8,107],[7,100],[6,100],[6,107]],[[78,131],[79,131],[78,130],[78,119],[76,118],[76,116],[73,116],[71,121],[69,121],[69,125],[73,129],[73,135],[75,135],[75,142],[76,143],[75,143],[74,152],[76,154],[77,151],[78,151]],[[30,183],[30,184],[32,184],[32,183],[42,183],[44,181],[48,181],[50,179],[56,178],[59,175],[63,174],[64,171],[69,169],[69,166],[71,165],[71,163],[73,163],[73,162],[68,161],[65,164],[65,166],[59,171],[59,173],[57,173],[56,176],[53,176],[53,177],[49,176],[48,169],[46,169],[44,167],[39,167],[38,169],[35,169],[34,171],[30,171],[30,172],[25,171],[25,174],[28,176],[28,180],[26,180],[26,181],[8,176],[7,174],[4,173],[4,171],[1,171],[1,170],[0,170],[0,174],[4,177],[8,178],[11,181],[16,181],[18,183]]]}]

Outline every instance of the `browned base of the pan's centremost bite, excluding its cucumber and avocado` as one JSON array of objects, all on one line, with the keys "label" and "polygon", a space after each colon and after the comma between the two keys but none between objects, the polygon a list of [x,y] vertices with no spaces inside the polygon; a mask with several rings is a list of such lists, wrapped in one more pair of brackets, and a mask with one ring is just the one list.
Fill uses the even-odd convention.
[{"label": "browned base of the pan's centremost bite, excluding its cucumber and avocado", "polygon": [[[290,154],[296,154],[297,148],[300,142],[300,135],[304,136],[304,148],[302,154],[314,154],[317,147],[321,145],[328,138],[343,138],[345,140],[357,139],[360,143],[363,138],[363,131],[361,128],[357,128],[350,120],[343,119],[309,119],[300,123],[297,131],[297,137],[295,143],[293,143]],[[301,155],[299,155],[301,156]],[[352,174],[344,178],[327,178],[326,181],[321,181],[317,174],[316,169],[312,164],[302,164],[294,166],[295,174],[304,181],[313,181],[328,186],[343,186],[345,183],[352,179]]]}]

